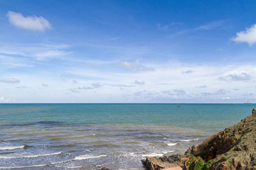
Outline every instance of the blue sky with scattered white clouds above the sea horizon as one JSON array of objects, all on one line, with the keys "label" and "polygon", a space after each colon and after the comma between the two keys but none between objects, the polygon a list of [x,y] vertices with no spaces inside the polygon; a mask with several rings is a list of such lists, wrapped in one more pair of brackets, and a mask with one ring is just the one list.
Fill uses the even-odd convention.
[{"label": "blue sky with scattered white clouds above the sea horizon", "polygon": [[256,103],[256,1],[0,1],[0,103]]}]

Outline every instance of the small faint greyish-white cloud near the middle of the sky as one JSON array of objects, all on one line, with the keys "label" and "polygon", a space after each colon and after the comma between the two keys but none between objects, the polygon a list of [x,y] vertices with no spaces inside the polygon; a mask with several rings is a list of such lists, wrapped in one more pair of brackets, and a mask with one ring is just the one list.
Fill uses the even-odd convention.
[{"label": "small faint greyish-white cloud near the middle of the sky", "polygon": [[155,71],[154,67],[146,67],[143,66],[139,60],[135,60],[135,62],[122,62],[121,65],[125,69],[129,69],[132,71]]}]

